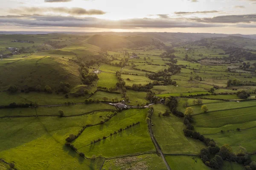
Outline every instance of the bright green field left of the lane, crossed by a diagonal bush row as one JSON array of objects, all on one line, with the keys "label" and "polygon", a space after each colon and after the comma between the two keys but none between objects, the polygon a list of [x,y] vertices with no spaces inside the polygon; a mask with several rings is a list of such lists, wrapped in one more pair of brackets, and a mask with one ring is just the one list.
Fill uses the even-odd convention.
[{"label": "bright green field left of the lane, crossed by a diagonal bush row", "polygon": [[[105,124],[86,128],[73,144],[88,157],[101,154],[108,158],[155,151],[145,122],[146,114],[147,109],[129,109],[119,112]],[[109,136],[110,133],[117,132],[119,128],[125,128],[137,121],[140,121],[140,124],[90,145],[91,141]]]}]

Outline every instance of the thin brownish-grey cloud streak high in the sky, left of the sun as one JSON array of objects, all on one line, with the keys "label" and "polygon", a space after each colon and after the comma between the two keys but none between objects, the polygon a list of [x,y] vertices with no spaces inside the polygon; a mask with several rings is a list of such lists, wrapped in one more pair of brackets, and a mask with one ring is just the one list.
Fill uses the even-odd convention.
[{"label": "thin brownish-grey cloud streak high in the sky, left of the sun", "polygon": [[62,13],[62,14],[69,14],[69,15],[102,15],[106,12],[97,10],[97,9],[90,9],[86,10],[83,8],[67,8],[67,7],[23,7],[19,9],[9,9],[9,12],[12,14],[20,14],[20,15],[32,15],[32,14],[45,14],[49,12],[53,13]]}]

